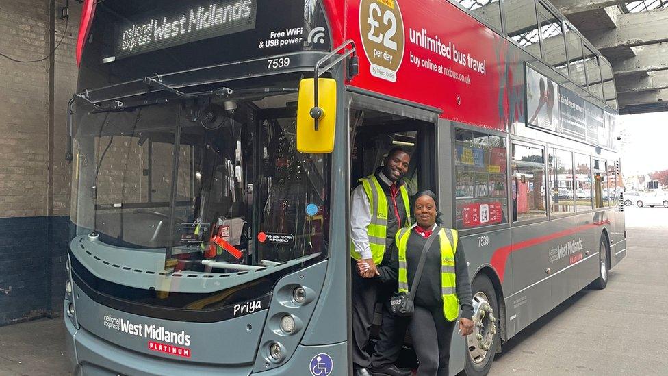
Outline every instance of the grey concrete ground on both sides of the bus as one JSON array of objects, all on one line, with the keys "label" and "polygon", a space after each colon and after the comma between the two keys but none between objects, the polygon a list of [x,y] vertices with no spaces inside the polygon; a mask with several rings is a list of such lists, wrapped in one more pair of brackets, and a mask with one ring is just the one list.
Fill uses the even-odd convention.
[{"label": "grey concrete ground on both sides of the bus", "polygon": [[[668,209],[627,208],[628,255],[602,291],[524,329],[490,375],[668,375]],[[62,318],[0,327],[0,375],[66,375]]]}]

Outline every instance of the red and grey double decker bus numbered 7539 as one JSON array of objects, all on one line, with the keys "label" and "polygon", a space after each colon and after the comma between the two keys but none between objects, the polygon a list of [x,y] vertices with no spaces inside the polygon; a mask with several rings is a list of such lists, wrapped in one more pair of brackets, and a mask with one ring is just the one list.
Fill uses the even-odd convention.
[{"label": "red and grey double decker bus numbered 7539", "polygon": [[350,189],[391,147],[470,264],[452,374],[626,255],[612,70],[546,1],[83,6],[77,374],[350,373]]}]

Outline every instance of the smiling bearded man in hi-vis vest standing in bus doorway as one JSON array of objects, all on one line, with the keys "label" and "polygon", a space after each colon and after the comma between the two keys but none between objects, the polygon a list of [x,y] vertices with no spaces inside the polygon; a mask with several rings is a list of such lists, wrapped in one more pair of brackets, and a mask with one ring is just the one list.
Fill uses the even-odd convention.
[{"label": "smiling bearded man in hi-vis vest standing in bus doorway", "polygon": [[[389,264],[394,236],[404,226],[411,225],[410,204],[406,184],[402,177],[408,172],[411,156],[400,148],[391,149],[383,166],[373,175],[359,179],[360,184],[352,190],[350,248],[352,259],[352,366],[355,376],[371,376],[368,370],[371,357],[365,351],[374,319],[377,301],[385,301],[397,286],[381,284],[374,277],[376,266]],[[361,275],[357,261],[362,260],[368,268]],[[388,310],[383,305],[383,310]],[[383,331],[391,330],[394,317],[383,312]],[[398,355],[398,352],[397,354]],[[383,374],[409,376],[410,371],[400,370],[394,364],[383,366]]]}]

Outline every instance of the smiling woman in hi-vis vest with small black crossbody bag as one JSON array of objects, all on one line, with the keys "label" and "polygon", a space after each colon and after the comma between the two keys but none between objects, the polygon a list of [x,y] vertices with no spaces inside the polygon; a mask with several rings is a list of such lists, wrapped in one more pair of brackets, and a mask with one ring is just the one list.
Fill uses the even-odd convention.
[{"label": "smiling woman in hi-vis vest with small black crossbody bag", "polygon": [[[377,273],[384,281],[398,280],[400,292],[412,290],[427,240],[431,236],[439,237],[426,249],[422,277],[413,299],[415,312],[403,324],[407,325],[418,355],[418,376],[444,376],[448,375],[450,341],[460,307],[459,333],[467,336],[473,331],[471,284],[457,231],[439,227],[436,195],[425,190],[415,197],[413,214],[417,223],[397,232],[395,255],[398,257],[393,257],[389,266],[378,268]],[[360,271],[364,267],[363,263],[358,263]]]}]

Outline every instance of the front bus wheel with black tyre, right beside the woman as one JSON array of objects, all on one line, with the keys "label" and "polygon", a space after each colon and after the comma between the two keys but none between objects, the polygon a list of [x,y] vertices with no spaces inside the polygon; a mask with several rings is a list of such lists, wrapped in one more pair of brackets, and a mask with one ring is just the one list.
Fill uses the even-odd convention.
[{"label": "front bus wheel with black tyre, right beside the woman", "polygon": [[466,337],[466,375],[487,375],[500,345],[498,302],[487,275],[478,275],[471,284],[473,296],[473,333]]}]

